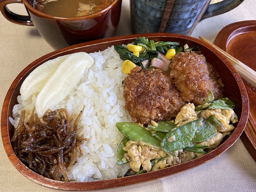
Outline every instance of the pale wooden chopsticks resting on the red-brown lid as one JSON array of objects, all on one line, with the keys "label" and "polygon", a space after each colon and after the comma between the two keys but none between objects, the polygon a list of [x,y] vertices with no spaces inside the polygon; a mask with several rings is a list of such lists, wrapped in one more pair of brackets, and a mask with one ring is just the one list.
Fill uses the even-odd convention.
[{"label": "pale wooden chopsticks resting on the red-brown lid", "polygon": [[233,56],[228,54],[226,51],[223,51],[222,49],[220,49],[216,45],[212,44],[210,41],[208,41],[204,37],[199,36],[199,39],[201,39],[202,41],[210,44],[212,47],[214,47],[219,52],[221,52],[222,55],[224,55],[229,60],[229,62],[233,65],[233,67],[237,70],[238,74],[244,80],[246,80],[248,83],[250,83],[254,87],[256,87],[256,72],[253,69],[251,69],[250,67],[248,67],[247,65],[245,65],[244,63],[239,61],[238,59],[234,58]]}]

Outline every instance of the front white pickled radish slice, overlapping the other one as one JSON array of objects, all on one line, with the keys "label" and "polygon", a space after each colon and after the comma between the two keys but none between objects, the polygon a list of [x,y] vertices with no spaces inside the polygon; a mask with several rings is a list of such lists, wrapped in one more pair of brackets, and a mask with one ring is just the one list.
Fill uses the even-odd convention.
[{"label": "front white pickled radish slice, overlapping the other one", "polygon": [[41,118],[51,106],[56,106],[72,91],[82,78],[85,69],[94,63],[93,58],[85,53],[70,54],[47,80],[36,98],[36,113]]}]

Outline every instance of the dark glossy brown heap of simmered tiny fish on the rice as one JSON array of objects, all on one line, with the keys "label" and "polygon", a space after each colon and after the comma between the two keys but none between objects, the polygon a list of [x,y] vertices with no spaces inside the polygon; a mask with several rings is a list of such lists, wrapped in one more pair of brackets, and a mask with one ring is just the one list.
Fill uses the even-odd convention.
[{"label": "dark glossy brown heap of simmered tiny fish on the rice", "polygon": [[[79,113],[71,126],[72,116],[66,109],[45,113],[42,123],[36,113],[25,122],[23,110],[15,129],[12,142],[17,157],[42,176],[55,180],[69,181],[68,170],[76,163],[76,149],[82,154],[80,144],[86,138],[79,137],[77,124],[83,113]],[[62,173],[63,176],[58,175]]]}]

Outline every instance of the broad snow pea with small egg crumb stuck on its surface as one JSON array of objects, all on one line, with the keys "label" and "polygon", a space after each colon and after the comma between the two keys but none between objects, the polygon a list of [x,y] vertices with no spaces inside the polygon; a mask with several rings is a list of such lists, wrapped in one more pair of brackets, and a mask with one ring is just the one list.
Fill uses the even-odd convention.
[{"label": "broad snow pea with small egg crumb stuck on its surface", "polygon": [[161,142],[162,149],[168,153],[187,147],[201,122],[202,119],[197,119],[170,131]]}]

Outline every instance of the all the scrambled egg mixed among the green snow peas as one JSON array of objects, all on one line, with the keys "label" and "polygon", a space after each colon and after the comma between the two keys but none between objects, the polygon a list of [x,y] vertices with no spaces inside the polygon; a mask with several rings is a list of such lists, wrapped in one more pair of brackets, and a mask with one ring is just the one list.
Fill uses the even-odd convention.
[{"label": "all the scrambled egg mixed among the green snow peas", "polygon": [[[232,123],[235,123],[238,121],[237,115],[232,109],[206,109],[201,112],[200,117],[206,119],[210,115],[214,115],[222,123],[223,127],[218,125],[217,134],[215,136],[206,141],[199,142],[201,145],[209,146],[209,148],[206,149],[208,151],[215,149],[220,144],[222,139],[228,135],[231,130],[234,129],[234,126],[230,125],[229,122],[231,121]],[[179,127],[196,119],[198,119],[198,117],[195,112],[195,106],[193,103],[188,103],[181,108],[180,112],[176,116],[174,123],[177,127]],[[151,123],[157,126],[156,122],[152,121]],[[162,158],[166,155],[166,152],[153,146],[148,146],[148,144],[143,142],[136,142],[131,140],[126,143],[126,146],[124,146],[123,149],[127,151],[125,158],[128,159],[130,168],[134,172],[139,172],[141,166],[146,171],[153,171],[184,163],[204,155],[204,153],[197,153],[181,149],[175,151],[176,156],[169,155],[165,159],[156,162],[152,167],[150,162],[151,159]]]}]

